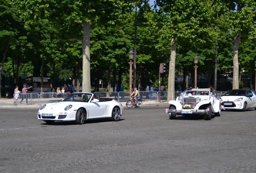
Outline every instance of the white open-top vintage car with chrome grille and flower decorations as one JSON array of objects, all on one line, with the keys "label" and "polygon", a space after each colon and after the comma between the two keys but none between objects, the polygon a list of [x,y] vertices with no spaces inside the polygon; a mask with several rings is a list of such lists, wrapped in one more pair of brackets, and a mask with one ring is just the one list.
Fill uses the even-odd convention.
[{"label": "white open-top vintage car with chrome grille and flower decorations", "polygon": [[221,115],[221,103],[211,89],[186,91],[169,104],[169,119],[176,119],[176,115],[203,115],[205,120],[210,120],[213,113]]}]

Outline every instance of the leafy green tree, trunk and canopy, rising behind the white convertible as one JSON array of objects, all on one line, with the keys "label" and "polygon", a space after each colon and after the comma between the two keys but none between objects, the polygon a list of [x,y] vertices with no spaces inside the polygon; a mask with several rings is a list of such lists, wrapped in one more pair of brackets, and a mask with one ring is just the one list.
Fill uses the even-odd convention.
[{"label": "leafy green tree, trunk and canopy, rising behind the white convertible", "polygon": [[[90,79],[90,32],[91,22],[105,26],[118,24],[122,12],[129,10],[129,0],[18,0],[27,24],[47,18],[60,32],[62,38],[82,43],[83,92],[91,92]],[[82,29],[83,28],[83,29]],[[83,30],[83,32],[81,32]],[[81,37],[83,39],[81,39]]]}]

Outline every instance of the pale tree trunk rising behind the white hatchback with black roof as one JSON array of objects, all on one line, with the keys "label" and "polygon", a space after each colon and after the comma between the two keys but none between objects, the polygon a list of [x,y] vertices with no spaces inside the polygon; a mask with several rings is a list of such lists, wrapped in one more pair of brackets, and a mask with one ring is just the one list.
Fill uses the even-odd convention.
[{"label": "pale tree trunk rising behind the white hatchback with black roof", "polygon": [[238,64],[238,43],[241,38],[241,34],[234,35],[233,46],[233,89],[239,89],[239,64]]}]

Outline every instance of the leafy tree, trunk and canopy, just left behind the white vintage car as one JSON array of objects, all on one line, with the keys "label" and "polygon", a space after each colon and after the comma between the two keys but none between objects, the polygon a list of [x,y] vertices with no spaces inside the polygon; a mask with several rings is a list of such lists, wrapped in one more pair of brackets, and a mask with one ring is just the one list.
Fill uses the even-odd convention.
[{"label": "leafy tree, trunk and canopy, just left behind the white vintage car", "polygon": [[167,98],[171,100],[174,99],[177,42],[182,48],[191,49],[213,44],[214,4],[213,1],[204,0],[156,0],[156,4],[159,6],[164,37],[169,37],[171,43]]}]

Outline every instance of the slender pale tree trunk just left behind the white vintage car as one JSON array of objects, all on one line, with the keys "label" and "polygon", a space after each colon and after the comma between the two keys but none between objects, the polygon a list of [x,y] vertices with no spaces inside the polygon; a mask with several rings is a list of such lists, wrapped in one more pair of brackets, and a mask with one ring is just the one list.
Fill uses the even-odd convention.
[{"label": "slender pale tree trunk just left behind the white vintage car", "polygon": [[174,36],[171,36],[171,55],[169,62],[169,77],[168,77],[168,97],[167,100],[174,100],[174,83],[175,83],[175,58],[176,58],[176,40],[174,40]]}]

